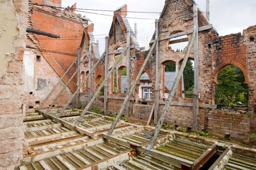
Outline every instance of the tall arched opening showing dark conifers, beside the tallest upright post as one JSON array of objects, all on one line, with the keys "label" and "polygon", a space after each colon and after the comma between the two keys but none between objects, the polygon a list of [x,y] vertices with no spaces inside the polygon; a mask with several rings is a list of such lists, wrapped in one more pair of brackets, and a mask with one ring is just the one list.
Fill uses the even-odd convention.
[{"label": "tall arched opening showing dark conifers, beside the tallest upright post", "polygon": [[194,89],[194,61],[188,60],[183,71],[182,94],[185,98],[193,98],[192,94]]}]

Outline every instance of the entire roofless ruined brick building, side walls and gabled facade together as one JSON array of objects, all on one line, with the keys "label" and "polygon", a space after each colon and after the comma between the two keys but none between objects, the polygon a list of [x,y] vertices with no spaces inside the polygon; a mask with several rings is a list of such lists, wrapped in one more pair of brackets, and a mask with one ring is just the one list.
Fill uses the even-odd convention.
[{"label": "entire roofless ruined brick building, side walls and gabled facade together", "polygon": [[[136,83],[123,115],[147,121],[150,112],[153,111],[152,107],[156,106],[154,103],[156,100],[158,109],[155,109],[152,120],[156,123],[161,115],[166,104],[166,93],[170,91],[166,88],[167,76],[164,68],[167,63],[175,63],[176,70],[179,70],[187,50],[186,48],[181,52],[174,51],[170,45],[176,43],[172,38],[181,35],[187,35],[187,38],[182,38],[182,41],[190,41],[194,27],[192,4],[194,4],[192,0],[166,0],[158,20],[158,31],[152,33],[152,40],[159,37],[159,51],[153,49],[143,70],[143,75],[147,78],[140,77]],[[0,167],[8,169],[14,168],[14,164],[22,158],[21,141],[24,139],[22,121],[26,111],[36,109],[42,104],[60,77],[64,76],[66,70],[75,61],[78,56],[78,46],[80,49],[78,63],[84,61],[79,70],[79,76],[74,74],[78,68],[75,62],[42,108],[52,104],[74,74],[74,78],[54,104],[54,107],[63,107],[76,91],[79,82],[88,76],[92,67],[102,56],[99,53],[98,43],[94,39],[94,24],[88,25],[88,18],[74,13],[76,4],[65,10],[61,10],[61,0],[15,1],[1,5],[3,8],[12,9],[8,13],[11,16],[10,19],[3,18],[3,20],[15,21],[16,24],[3,28],[10,30],[10,32],[7,31],[7,35],[12,41],[8,41],[10,49],[8,46],[5,51],[1,51],[1,55],[7,56],[8,60],[0,65]],[[55,6],[55,8],[49,6]],[[199,91],[195,96],[200,96],[197,129],[211,129],[240,141],[248,141],[250,133],[256,133],[256,25],[244,29],[242,35],[236,33],[220,36],[199,8],[197,14]],[[16,15],[19,20],[15,18]],[[131,86],[149,53],[139,46],[126,15],[126,5],[114,12],[112,26],[106,37],[105,53],[108,55],[99,61],[79,92],[78,100],[83,106],[90,102],[128,43],[129,52],[126,51],[122,60],[115,66],[115,71],[104,86],[104,96],[97,96],[91,106],[91,108],[98,107],[104,113],[118,113],[129,90],[127,86],[122,88],[125,80],[122,78],[122,72],[130,68],[130,72],[126,72],[128,79],[125,82],[129,82]],[[156,55],[159,55],[158,61]],[[189,59],[194,60],[193,50],[190,51]],[[159,90],[156,88],[157,63]],[[238,66],[244,73],[244,83],[249,87],[250,117],[246,114],[223,113],[215,109],[214,90],[218,84],[218,73],[229,64]],[[182,95],[183,91],[181,78],[165,122],[173,128],[192,129],[195,119],[194,100],[185,98]],[[159,94],[158,99],[155,97],[156,92]],[[74,99],[70,106],[76,106],[76,102]],[[8,109],[6,104],[9,106]]]}]

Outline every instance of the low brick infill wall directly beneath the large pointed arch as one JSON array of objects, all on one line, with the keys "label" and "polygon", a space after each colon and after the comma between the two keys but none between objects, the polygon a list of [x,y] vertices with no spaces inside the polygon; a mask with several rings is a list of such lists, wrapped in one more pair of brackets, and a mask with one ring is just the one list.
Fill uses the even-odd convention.
[{"label": "low brick infill wall directly beneath the large pointed arch", "polygon": [[230,135],[242,142],[249,139],[250,118],[246,114],[210,111],[208,119],[208,128],[213,132]]}]

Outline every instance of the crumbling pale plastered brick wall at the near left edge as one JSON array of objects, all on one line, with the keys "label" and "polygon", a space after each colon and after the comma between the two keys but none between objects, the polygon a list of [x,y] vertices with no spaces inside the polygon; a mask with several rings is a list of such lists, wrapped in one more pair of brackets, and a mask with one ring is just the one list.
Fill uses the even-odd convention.
[{"label": "crumbling pale plastered brick wall at the near left edge", "polygon": [[23,54],[28,0],[0,1],[0,169],[22,158],[24,138]]}]

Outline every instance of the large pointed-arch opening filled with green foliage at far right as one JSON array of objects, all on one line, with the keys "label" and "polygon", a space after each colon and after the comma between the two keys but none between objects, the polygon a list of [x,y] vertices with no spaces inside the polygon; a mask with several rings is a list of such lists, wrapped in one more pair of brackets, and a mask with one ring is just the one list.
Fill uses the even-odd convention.
[{"label": "large pointed-arch opening filled with green foliage at far right", "polygon": [[230,106],[248,106],[248,84],[244,73],[238,66],[228,65],[218,73],[215,86],[215,104]]}]

